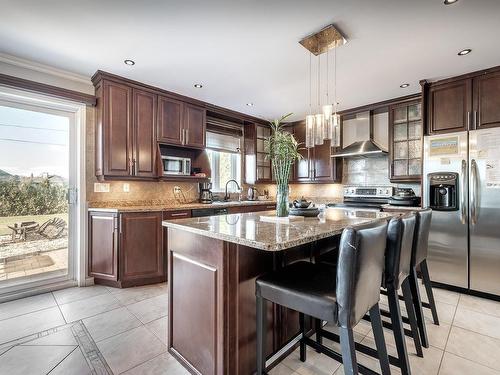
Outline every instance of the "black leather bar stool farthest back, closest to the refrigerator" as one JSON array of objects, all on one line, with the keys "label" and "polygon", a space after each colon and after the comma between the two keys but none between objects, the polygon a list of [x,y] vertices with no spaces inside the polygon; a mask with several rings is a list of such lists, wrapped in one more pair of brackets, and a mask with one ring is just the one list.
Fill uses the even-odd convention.
[{"label": "black leather bar stool farthest back, closest to the refrigerator", "polygon": [[[416,212],[415,236],[413,238],[413,252],[410,269],[410,287],[413,296],[413,305],[417,317],[420,339],[425,348],[429,347],[429,339],[425,327],[425,318],[422,307],[431,309],[432,319],[434,324],[439,325],[439,318],[432,293],[431,280],[429,277],[429,269],[427,268],[427,249],[429,245],[429,231],[431,227],[432,210],[427,208]],[[427,299],[429,303],[422,303],[420,298],[420,290],[418,288],[417,268],[420,268],[422,282],[425,286]]]}]

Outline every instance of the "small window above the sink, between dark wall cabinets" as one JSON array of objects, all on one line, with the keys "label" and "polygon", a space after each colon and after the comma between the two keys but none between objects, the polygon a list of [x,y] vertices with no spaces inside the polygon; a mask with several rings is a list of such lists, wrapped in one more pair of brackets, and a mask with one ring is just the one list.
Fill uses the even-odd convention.
[{"label": "small window above the sink, between dark wall cabinets", "polygon": [[[229,180],[236,180],[241,185],[240,137],[207,132],[207,153],[212,170],[212,190],[225,190]],[[236,185],[228,186],[228,191],[235,192]]]}]

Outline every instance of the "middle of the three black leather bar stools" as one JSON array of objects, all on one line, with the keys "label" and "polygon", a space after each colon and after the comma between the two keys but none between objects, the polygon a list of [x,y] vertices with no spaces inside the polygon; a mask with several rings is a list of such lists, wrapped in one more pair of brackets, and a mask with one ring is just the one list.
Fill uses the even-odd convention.
[{"label": "middle of the three black leather bar stools", "polygon": [[385,277],[383,287],[387,290],[391,324],[394,332],[399,367],[403,375],[411,374],[408,351],[406,349],[405,331],[399,306],[398,289],[403,291],[403,299],[411,327],[411,336],[417,355],[423,357],[422,345],[416,320],[413,297],[410,287],[410,268],[415,232],[416,216],[414,213],[392,218],[387,229],[387,249],[385,255]]}]

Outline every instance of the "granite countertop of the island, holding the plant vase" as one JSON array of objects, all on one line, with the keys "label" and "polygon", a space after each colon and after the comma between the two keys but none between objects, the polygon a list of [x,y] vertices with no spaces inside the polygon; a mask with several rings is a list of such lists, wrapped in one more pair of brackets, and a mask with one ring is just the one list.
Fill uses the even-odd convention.
[{"label": "granite countertop of the island, holding the plant vase", "polygon": [[263,215],[274,215],[274,211],[165,220],[162,224],[261,250],[280,251],[338,235],[348,226],[394,216],[387,212],[328,208],[324,219],[314,217],[291,223],[274,223],[260,221]]}]

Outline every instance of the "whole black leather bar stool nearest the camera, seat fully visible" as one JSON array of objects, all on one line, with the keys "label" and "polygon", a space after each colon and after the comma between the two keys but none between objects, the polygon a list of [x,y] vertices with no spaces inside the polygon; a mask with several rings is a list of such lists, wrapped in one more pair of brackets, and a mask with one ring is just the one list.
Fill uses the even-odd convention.
[{"label": "whole black leather bar stool nearest the camera, seat fully visible", "polygon": [[[306,360],[306,345],[309,345],[342,362],[345,374],[358,374],[358,371],[374,374],[358,365],[353,333],[353,327],[369,311],[382,374],[390,374],[378,305],[386,238],[385,221],[346,228],[340,239],[338,267],[297,262],[256,280],[258,375],[265,373],[267,301],[299,311],[301,361]],[[305,315],[339,326],[342,354],[322,345],[321,340],[306,336]]]}]

